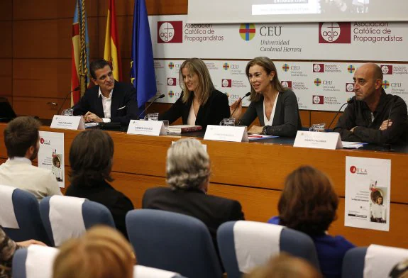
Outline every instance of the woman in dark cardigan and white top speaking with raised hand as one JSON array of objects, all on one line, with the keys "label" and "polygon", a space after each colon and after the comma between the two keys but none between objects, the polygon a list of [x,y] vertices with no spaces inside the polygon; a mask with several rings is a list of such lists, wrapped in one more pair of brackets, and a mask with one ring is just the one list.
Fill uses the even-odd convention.
[{"label": "woman in dark cardigan and white top speaking with raised hand", "polygon": [[250,126],[258,116],[260,126],[252,126],[248,133],[296,136],[302,129],[297,97],[291,89],[283,87],[277,78],[275,64],[268,57],[256,57],[246,65],[249,79],[250,105],[242,115],[242,101],[237,99],[230,107],[231,117],[238,125]]}]

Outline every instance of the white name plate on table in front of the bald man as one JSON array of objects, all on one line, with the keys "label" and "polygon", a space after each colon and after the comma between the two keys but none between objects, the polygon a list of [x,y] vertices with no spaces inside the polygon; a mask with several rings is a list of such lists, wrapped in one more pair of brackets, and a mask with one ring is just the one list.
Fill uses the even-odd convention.
[{"label": "white name plate on table in front of the bald man", "polygon": [[336,150],[343,148],[340,134],[298,130],[294,139],[294,147]]}]

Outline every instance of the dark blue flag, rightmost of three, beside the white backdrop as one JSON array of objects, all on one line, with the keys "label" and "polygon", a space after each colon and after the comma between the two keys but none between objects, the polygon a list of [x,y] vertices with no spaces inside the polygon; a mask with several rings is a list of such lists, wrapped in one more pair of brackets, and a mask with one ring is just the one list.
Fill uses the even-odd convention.
[{"label": "dark blue flag, rightmost of three, beside the white backdrop", "polygon": [[138,94],[138,106],[143,106],[156,94],[152,40],[145,0],[135,0],[133,12],[131,82]]}]

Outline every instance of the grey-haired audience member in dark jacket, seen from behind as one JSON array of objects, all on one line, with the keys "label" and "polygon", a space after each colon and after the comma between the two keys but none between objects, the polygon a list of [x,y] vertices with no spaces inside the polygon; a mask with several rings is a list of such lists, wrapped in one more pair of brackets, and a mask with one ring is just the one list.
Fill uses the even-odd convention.
[{"label": "grey-haired audience member in dark jacket, seen from behind", "polygon": [[143,208],[161,209],[198,218],[209,228],[215,248],[216,230],[226,221],[243,220],[238,201],[211,196],[210,159],[196,139],[181,139],[167,150],[167,184],[151,188],[143,196]]}]

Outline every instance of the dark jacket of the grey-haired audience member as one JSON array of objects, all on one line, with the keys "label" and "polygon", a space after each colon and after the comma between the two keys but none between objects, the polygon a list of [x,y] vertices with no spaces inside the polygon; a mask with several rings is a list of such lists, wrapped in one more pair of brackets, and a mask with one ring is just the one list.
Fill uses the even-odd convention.
[{"label": "dark jacket of the grey-haired audience member", "polygon": [[238,201],[206,195],[199,189],[150,188],[143,195],[142,208],[160,209],[198,218],[209,228],[216,250],[216,230],[227,221],[244,220]]}]

